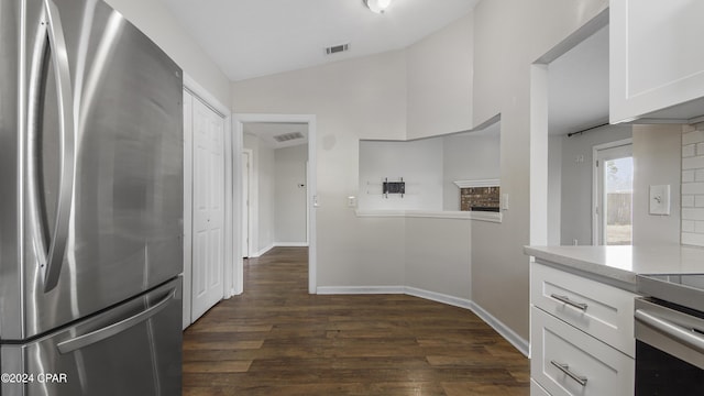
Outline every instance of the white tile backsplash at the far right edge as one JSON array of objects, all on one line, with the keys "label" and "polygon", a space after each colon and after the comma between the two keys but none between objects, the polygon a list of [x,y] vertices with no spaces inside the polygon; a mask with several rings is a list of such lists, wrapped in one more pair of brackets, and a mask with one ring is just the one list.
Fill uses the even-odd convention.
[{"label": "white tile backsplash at the far right edge", "polygon": [[704,123],[682,133],[681,242],[704,246]]}]

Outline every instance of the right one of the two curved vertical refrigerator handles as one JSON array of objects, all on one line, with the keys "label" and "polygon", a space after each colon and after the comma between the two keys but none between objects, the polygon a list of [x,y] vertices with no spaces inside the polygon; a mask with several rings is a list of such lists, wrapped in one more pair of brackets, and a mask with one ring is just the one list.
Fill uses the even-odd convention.
[{"label": "right one of the two curved vertical refrigerator handles", "polygon": [[44,271],[44,293],[48,293],[56,287],[58,283],[68,239],[75,183],[75,120],[73,107],[74,96],[70,85],[68,51],[64,37],[64,28],[56,4],[52,0],[44,0],[44,6],[48,18],[47,33],[56,79],[62,158],[56,222],[54,226],[54,234],[48,246],[46,267]]}]

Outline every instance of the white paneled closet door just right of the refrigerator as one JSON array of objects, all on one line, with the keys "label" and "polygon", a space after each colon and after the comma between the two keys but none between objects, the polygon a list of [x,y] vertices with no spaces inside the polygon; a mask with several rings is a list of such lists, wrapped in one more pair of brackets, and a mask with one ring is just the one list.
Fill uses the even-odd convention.
[{"label": "white paneled closet door just right of the refrigerator", "polygon": [[224,119],[193,102],[193,306],[196,321],[223,297]]}]

